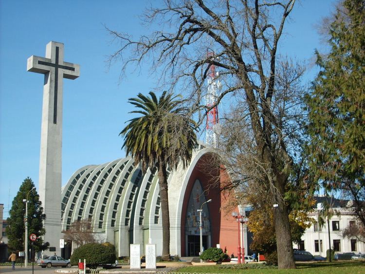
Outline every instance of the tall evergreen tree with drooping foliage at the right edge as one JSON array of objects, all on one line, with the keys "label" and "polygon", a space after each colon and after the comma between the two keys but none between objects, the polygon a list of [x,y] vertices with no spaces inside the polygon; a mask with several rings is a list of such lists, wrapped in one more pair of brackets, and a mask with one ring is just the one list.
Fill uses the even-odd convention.
[{"label": "tall evergreen tree with drooping foliage at the right edge", "polygon": [[354,201],[365,226],[365,2],[345,0],[329,26],[330,53],[307,98],[314,180]]}]

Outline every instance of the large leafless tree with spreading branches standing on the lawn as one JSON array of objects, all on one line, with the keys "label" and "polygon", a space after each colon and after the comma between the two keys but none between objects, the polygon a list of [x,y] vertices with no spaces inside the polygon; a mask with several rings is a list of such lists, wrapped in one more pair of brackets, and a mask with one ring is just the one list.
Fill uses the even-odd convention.
[{"label": "large leafless tree with spreading branches standing on the lawn", "polygon": [[152,60],[152,69],[162,75],[159,84],[181,89],[200,122],[215,107],[204,106],[205,79],[212,65],[222,83],[216,105],[229,95],[242,98],[240,111],[246,118],[242,130],[252,140],[253,153],[245,157],[256,170],[264,171],[260,182],[269,186],[266,195],[278,205],[273,211],[279,268],[295,268],[285,200],[293,158],[282,130],[285,115],[275,108],[276,94],[285,94],[276,90],[282,65],[277,62],[278,42],[294,2],[165,0],[162,7],[149,8],[144,17],[146,24],[158,22],[162,30],[137,40],[110,30],[121,42],[120,50],[110,56],[110,61],[122,60],[121,76],[129,65],[138,67]]}]

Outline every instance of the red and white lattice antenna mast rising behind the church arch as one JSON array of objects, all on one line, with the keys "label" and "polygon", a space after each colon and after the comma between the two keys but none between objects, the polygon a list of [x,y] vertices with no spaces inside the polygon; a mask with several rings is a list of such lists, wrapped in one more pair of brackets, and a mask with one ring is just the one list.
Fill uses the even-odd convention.
[{"label": "red and white lattice antenna mast rising behind the church arch", "polygon": [[[207,57],[212,58],[213,60],[217,57],[214,57],[215,53],[208,52]],[[207,94],[205,96],[205,105],[207,108],[211,108],[217,103],[217,91],[221,88],[221,83],[217,79],[219,73],[216,72],[216,66],[211,64],[208,72],[208,89]],[[206,144],[212,147],[218,146],[218,137],[216,134],[216,129],[219,127],[219,116],[218,116],[218,106],[215,106],[211,110],[209,110],[206,114]]]}]

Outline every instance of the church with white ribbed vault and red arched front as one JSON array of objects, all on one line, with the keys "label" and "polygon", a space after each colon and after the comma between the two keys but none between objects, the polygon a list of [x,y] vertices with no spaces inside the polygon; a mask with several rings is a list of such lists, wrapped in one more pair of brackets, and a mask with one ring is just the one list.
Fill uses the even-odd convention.
[{"label": "church with white ribbed vault and red arched front", "polygon": [[[199,145],[185,169],[168,170],[170,254],[198,256],[199,212],[202,206],[204,249],[220,245],[228,253],[237,250],[237,223],[222,210],[226,198],[221,191],[219,166],[212,167],[214,153]],[[62,230],[77,220],[91,220],[94,237],[115,245],[117,256],[129,256],[129,244],[156,244],[162,253],[161,204],[157,168],[144,173],[131,157],[78,169],[62,187]],[[247,242],[247,241],[246,241]],[[70,256],[76,246],[66,246]]]}]

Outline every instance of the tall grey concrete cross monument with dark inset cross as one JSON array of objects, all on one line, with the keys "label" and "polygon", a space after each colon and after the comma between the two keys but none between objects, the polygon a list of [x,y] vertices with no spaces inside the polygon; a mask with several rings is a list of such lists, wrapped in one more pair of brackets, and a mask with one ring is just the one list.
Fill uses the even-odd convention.
[{"label": "tall grey concrete cross monument with dark inset cross", "polygon": [[46,57],[32,55],[28,58],[27,71],[44,74],[39,200],[47,218],[44,241],[50,243],[52,255],[56,252],[60,256],[63,78],[76,79],[80,66],[64,62],[63,44],[51,41],[46,46]]}]

